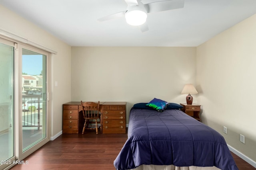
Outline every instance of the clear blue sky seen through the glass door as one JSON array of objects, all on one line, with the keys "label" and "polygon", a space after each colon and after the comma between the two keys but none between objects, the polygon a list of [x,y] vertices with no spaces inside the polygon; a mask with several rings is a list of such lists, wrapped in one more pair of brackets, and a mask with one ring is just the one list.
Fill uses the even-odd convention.
[{"label": "clear blue sky seen through the glass door", "polygon": [[42,55],[22,55],[22,73],[40,75],[42,68]]}]

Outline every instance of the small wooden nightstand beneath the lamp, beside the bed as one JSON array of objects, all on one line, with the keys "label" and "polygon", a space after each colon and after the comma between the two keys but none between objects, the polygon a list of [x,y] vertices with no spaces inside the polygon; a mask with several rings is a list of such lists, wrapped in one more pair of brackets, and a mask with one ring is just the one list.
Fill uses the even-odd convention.
[{"label": "small wooden nightstand beneath the lamp, beside the bed", "polygon": [[196,120],[201,121],[200,119],[200,106],[198,104],[186,104],[186,103],[180,103],[181,106],[183,106],[180,110],[186,113],[187,115],[190,115],[194,117]]}]

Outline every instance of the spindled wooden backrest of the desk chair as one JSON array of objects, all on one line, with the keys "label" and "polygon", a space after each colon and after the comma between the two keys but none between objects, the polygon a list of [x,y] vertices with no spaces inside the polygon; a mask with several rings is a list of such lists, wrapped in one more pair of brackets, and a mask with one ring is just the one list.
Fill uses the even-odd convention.
[{"label": "spindled wooden backrest of the desk chair", "polygon": [[84,119],[100,118],[100,114],[99,114],[100,101],[98,101],[98,103],[95,103],[95,102],[82,102],[81,100],[81,106],[82,106]]}]

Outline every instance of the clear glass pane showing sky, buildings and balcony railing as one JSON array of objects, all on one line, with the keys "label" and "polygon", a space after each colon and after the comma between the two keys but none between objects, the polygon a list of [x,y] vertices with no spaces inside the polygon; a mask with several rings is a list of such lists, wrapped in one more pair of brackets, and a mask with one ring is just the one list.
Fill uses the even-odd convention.
[{"label": "clear glass pane showing sky, buildings and balcony railing", "polygon": [[22,152],[46,137],[46,55],[22,48]]}]

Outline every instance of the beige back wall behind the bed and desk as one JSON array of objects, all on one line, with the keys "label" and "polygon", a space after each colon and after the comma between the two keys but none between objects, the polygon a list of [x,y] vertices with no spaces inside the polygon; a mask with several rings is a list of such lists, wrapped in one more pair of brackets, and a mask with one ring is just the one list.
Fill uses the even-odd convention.
[{"label": "beige back wall behind the bed and desk", "polygon": [[[196,47],[72,47],[72,101],[186,102],[196,83]],[[196,95],[195,95],[196,96]]]}]

